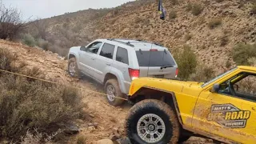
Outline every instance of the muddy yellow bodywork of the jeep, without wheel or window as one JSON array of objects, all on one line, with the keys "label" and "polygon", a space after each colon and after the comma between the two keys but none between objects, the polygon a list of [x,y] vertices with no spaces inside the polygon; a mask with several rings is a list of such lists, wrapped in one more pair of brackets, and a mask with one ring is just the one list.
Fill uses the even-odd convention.
[{"label": "muddy yellow bodywork of the jeep, without wheel or window", "polygon": [[138,78],[132,82],[129,95],[133,98],[142,87],[170,92],[177,101],[183,127],[192,131],[199,130],[210,138],[256,143],[256,103],[210,92],[215,83],[226,82],[241,72],[256,74],[256,68],[238,66],[206,86],[199,82]]}]

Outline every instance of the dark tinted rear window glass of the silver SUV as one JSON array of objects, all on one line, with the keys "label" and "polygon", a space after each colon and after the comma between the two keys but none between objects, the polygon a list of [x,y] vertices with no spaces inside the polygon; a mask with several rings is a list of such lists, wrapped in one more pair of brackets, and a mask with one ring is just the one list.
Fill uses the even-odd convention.
[{"label": "dark tinted rear window glass of the silver SUV", "polygon": [[168,50],[165,51],[136,51],[139,66],[175,66],[174,59]]}]

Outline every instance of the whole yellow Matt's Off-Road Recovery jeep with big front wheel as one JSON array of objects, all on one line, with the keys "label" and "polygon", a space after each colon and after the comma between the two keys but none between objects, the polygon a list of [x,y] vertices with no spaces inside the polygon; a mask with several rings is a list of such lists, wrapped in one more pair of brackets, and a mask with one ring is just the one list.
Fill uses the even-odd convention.
[{"label": "whole yellow Matt's Off-Road Recovery jeep with big front wheel", "polygon": [[206,83],[135,79],[126,118],[132,143],[166,144],[192,135],[256,143],[256,67],[238,66]]}]

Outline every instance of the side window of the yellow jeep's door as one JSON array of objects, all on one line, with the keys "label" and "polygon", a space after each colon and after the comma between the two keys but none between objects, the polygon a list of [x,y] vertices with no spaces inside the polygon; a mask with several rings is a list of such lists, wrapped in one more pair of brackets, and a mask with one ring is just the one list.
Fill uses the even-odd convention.
[{"label": "side window of the yellow jeep's door", "polygon": [[220,85],[219,93],[256,101],[256,74],[240,73]]}]

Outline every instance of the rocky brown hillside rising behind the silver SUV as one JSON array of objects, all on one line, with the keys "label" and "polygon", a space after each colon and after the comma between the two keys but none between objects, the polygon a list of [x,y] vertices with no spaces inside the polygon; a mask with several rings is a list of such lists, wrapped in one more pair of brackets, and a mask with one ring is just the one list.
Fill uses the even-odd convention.
[{"label": "rocky brown hillside rising behind the silver SUV", "polygon": [[46,40],[58,51],[95,38],[138,38],[161,42],[171,51],[188,45],[200,62],[217,67],[234,64],[230,52],[239,42],[256,40],[254,0],[165,0],[163,5],[165,21],[155,0],[48,18],[42,20],[48,25]]}]

